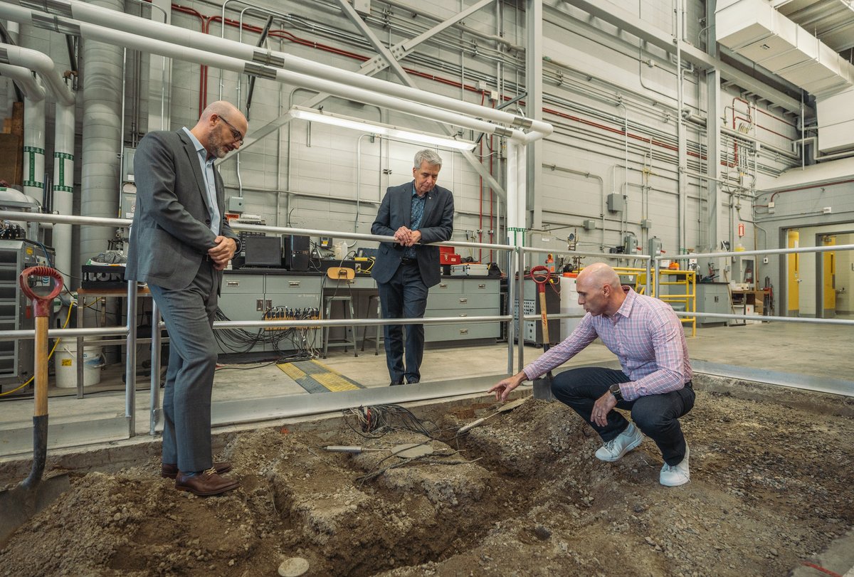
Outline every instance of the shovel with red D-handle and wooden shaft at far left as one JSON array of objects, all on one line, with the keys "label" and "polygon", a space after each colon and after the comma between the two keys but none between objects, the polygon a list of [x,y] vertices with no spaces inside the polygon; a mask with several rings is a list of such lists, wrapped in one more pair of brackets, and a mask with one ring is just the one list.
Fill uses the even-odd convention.
[{"label": "shovel with red D-handle and wooden shaft at far left", "polygon": [[[50,294],[32,292],[29,277],[51,277],[56,283]],[[0,545],[38,511],[43,510],[69,487],[68,475],[42,480],[48,452],[48,323],[50,305],[62,288],[62,276],[49,266],[31,266],[20,273],[20,288],[32,300],[36,321],[35,411],[32,417],[32,470],[24,481],[0,491]]]}]

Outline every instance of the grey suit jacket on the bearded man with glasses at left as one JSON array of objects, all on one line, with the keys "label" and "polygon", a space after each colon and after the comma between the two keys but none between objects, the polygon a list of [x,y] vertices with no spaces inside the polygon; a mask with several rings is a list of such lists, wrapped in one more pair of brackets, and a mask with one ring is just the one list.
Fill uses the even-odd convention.
[{"label": "grey suit jacket on the bearded man with glasses at left", "polygon": [[[208,248],[216,244],[202,167],[184,130],[149,132],[133,159],[137,207],[133,213],[126,278],[170,290],[190,286]],[[239,240],[225,219],[225,191],[214,170],[219,234]],[[220,273],[219,280],[222,280]]]}]

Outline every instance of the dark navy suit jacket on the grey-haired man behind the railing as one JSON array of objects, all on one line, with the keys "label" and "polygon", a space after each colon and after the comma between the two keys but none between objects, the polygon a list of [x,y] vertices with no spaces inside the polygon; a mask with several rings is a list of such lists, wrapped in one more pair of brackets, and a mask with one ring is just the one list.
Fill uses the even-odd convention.
[{"label": "dark navy suit jacket on the grey-haired man behind the railing", "polygon": [[[412,181],[400,186],[390,186],[371,225],[371,233],[395,236],[401,226],[412,228]],[[442,242],[451,239],[453,233],[453,195],[448,189],[436,186],[427,193],[424,201],[424,216],[421,217],[421,243]],[[388,283],[401,265],[403,250],[396,242],[380,242],[377,262],[371,268],[371,277],[377,283]],[[415,246],[418,271],[427,287],[439,283],[439,247]]]}]

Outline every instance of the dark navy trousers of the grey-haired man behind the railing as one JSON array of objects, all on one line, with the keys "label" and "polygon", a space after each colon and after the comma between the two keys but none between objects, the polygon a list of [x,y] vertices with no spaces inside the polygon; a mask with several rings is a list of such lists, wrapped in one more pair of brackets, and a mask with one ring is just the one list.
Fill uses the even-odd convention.
[{"label": "dark navy trousers of the grey-haired man behind the railing", "polygon": [[[401,264],[388,283],[377,283],[383,318],[421,318],[427,307],[427,286],[421,279],[418,263]],[[407,329],[407,365],[403,365],[403,328]],[[389,365],[391,382],[421,380],[421,359],[424,358],[423,324],[387,324],[385,362]]]}]

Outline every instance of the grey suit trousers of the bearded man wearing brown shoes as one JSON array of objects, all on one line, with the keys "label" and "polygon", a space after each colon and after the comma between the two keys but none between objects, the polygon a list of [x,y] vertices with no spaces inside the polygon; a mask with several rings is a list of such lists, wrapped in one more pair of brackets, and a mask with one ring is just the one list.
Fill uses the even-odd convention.
[{"label": "grey suit trousers of the bearded man wearing brown shoes", "polygon": [[218,282],[208,260],[187,288],[171,290],[149,282],[169,333],[162,461],[177,463],[186,473],[213,465],[211,393],[217,360],[213,318]]}]

